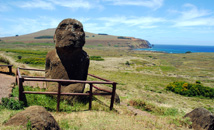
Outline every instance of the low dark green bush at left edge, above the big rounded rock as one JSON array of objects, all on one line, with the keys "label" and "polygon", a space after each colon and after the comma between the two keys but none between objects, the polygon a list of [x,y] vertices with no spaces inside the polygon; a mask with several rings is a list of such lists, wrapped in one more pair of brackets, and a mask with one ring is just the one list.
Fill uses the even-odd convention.
[{"label": "low dark green bush at left edge, above the big rounded rock", "polygon": [[2,106],[12,110],[19,110],[24,108],[22,101],[15,100],[13,98],[2,98]]}]

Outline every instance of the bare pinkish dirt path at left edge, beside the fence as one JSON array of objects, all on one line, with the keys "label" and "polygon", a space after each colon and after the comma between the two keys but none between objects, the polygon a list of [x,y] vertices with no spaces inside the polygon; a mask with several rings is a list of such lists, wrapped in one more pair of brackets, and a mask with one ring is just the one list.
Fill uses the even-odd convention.
[{"label": "bare pinkish dirt path at left edge, beside the fence", "polygon": [[0,73],[0,102],[3,97],[9,97],[9,89],[13,82],[15,82],[15,77]]}]

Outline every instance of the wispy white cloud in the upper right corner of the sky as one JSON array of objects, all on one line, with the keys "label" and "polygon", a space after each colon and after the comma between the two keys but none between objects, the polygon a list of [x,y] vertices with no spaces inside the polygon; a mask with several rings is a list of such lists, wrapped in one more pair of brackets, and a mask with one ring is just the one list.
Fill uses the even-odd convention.
[{"label": "wispy white cloud in the upper right corner of the sky", "polygon": [[185,4],[185,11],[175,11],[181,14],[174,20],[175,27],[186,26],[214,26],[213,12],[204,9],[198,9],[195,5]]}]

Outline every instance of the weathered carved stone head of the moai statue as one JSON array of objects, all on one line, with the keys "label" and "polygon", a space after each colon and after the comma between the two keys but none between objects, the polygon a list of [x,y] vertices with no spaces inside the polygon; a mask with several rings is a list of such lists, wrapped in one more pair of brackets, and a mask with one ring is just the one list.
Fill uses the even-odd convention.
[{"label": "weathered carved stone head of the moai statue", "polygon": [[56,49],[81,48],[85,44],[83,25],[75,19],[64,19],[59,23],[54,35]]}]

